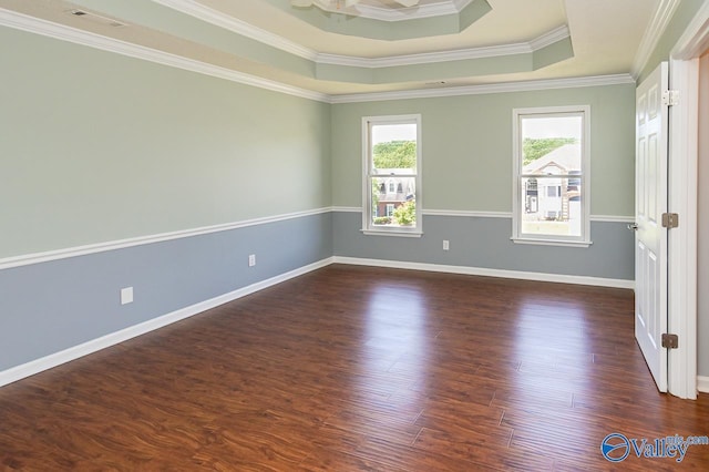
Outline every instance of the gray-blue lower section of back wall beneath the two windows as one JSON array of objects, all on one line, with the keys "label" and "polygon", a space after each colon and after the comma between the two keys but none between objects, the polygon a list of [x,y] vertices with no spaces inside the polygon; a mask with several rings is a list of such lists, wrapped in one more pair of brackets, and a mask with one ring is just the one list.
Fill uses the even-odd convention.
[{"label": "gray-blue lower section of back wall beneath the two windows", "polygon": [[[635,278],[634,236],[627,223],[592,222],[589,247],[514,244],[512,218],[423,216],[421,238],[362,234],[358,212],[333,215],[335,255],[496,270]],[[450,250],[443,250],[443,239]]]}]

